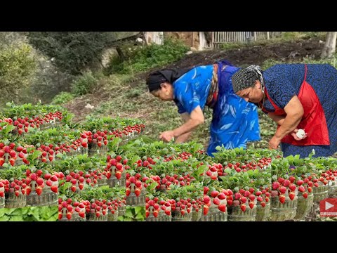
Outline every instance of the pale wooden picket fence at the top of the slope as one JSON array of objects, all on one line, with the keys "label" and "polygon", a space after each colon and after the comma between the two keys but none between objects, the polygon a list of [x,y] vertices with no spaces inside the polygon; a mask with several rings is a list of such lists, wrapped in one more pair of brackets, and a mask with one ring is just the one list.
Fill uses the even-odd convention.
[{"label": "pale wooden picket fence at the top of the slope", "polygon": [[277,37],[281,32],[212,32],[211,48],[227,42],[247,42]]}]

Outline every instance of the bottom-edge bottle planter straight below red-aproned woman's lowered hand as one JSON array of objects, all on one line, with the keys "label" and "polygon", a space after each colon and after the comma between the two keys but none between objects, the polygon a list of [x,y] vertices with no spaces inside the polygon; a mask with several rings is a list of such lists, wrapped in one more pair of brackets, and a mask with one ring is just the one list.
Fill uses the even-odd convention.
[{"label": "bottom-edge bottle planter straight below red-aproned woman's lowered hand", "polygon": [[297,203],[298,203],[298,191],[295,191],[295,197],[293,200],[289,198],[288,192],[284,194],[286,197],[285,202],[282,204],[279,201],[279,196],[271,197],[271,213],[270,221],[286,221],[293,219],[296,216],[297,212]]}]

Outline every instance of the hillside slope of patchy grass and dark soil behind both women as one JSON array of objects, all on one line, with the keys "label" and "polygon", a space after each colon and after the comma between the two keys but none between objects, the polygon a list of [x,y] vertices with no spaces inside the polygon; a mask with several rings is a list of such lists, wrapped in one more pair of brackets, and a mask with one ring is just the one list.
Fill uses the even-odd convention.
[{"label": "hillside slope of patchy grass and dark soil behind both women", "polygon": [[[250,64],[263,65],[266,60],[279,62],[301,61],[303,58],[317,60],[324,44],[319,39],[289,41],[277,44],[259,44],[242,46],[230,51],[201,51],[191,53],[182,60],[163,67],[189,67],[214,63],[226,59],[233,65],[244,67]],[[145,77],[150,71],[141,72],[131,77],[113,75],[100,80],[98,89],[92,94],[75,98],[67,107],[80,122],[90,113],[95,116],[133,117],[144,119],[147,134],[157,138],[161,131],[172,129],[181,123],[176,105],[164,103],[147,92]],[[192,139],[201,143],[209,140],[209,122],[211,112],[206,110],[206,124],[200,126]],[[260,129],[263,141],[257,146],[267,147],[267,141],[275,132],[275,124],[261,114]]]}]

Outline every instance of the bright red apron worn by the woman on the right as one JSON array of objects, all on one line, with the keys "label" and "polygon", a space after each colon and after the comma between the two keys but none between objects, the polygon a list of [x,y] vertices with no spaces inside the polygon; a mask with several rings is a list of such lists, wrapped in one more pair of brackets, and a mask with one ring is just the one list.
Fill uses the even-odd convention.
[{"label": "bright red apron worn by the woman on the right", "polygon": [[[287,134],[282,138],[282,143],[289,143],[291,145],[330,145],[328,126],[326,125],[326,119],[324,110],[319,98],[312,86],[306,82],[307,77],[307,65],[305,65],[305,74],[303,83],[300,86],[300,92],[298,93],[298,99],[303,105],[304,114],[297,126],[297,129],[304,129],[308,133],[307,138],[296,141],[291,134]],[[286,115],[283,109],[279,108],[268,96],[267,89],[265,89],[265,95],[267,96],[272,106],[275,108],[275,115]],[[263,108],[263,112],[267,112]],[[279,126],[277,126],[279,129]]]}]

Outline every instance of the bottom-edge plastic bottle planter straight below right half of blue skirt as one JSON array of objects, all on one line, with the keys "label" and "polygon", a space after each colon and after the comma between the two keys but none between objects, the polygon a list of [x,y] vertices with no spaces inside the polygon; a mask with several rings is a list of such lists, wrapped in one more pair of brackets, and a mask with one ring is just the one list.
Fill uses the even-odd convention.
[{"label": "bottom-edge plastic bottle planter straight below right half of blue skirt", "polygon": [[242,211],[240,205],[228,207],[228,221],[256,221],[256,199],[253,208],[249,207],[249,200],[244,203],[246,210]]}]

